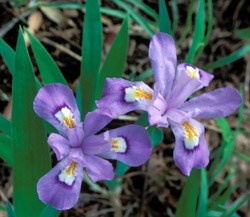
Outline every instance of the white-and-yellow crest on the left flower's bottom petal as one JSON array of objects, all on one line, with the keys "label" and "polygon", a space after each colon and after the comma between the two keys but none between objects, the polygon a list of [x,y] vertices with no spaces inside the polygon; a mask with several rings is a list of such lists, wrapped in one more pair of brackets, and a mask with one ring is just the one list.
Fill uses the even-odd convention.
[{"label": "white-and-yellow crest on the left flower's bottom petal", "polygon": [[61,171],[61,173],[58,176],[59,180],[61,182],[64,182],[67,185],[72,185],[76,177],[76,173],[75,173],[76,167],[77,167],[77,163],[71,162],[70,165],[68,165]]}]

